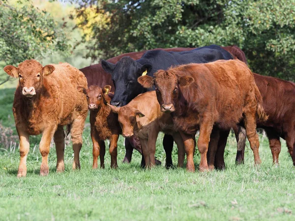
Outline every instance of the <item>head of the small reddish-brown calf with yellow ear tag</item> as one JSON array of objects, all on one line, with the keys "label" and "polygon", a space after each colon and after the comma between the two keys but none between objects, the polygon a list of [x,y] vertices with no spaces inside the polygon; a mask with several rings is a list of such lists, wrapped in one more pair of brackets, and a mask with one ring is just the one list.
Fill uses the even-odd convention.
[{"label": "head of the small reddish-brown calf with yellow ear tag", "polygon": [[88,109],[90,111],[100,110],[102,105],[107,104],[107,95],[111,90],[110,85],[105,85],[103,88],[91,85],[88,89],[78,86],[77,89],[84,93],[87,97]]}]

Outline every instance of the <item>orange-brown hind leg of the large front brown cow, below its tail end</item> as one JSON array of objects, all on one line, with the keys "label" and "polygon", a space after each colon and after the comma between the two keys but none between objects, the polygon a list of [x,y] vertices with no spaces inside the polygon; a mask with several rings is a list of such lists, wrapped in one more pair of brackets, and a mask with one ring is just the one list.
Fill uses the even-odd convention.
[{"label": "orange-brown hind leg of the large front brown cow, below its tail end", "polygon": [[246,135],[254,154],[254,164],[258,165],[261,164],[261,160],[259,156],[259,138],[256,132],[256,110],[252,109],[251,111],[246,111],[244,114]]}]

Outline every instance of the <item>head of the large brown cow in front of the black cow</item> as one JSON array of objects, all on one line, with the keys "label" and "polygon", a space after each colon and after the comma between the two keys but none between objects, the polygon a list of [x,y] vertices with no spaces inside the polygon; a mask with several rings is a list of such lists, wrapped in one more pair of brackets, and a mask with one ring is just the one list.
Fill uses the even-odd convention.
[{"label": "head of the large brown cow in front of the black cow", "polygon": [[170,113],[177,107],[180,87],[188,86],[194,82],[194,79],[189,76],[179,76],[172,70],[159,70],[154,74],[154,78],[142,76],[138,78],[138,82],[146,88],[154,85],[161,111]]}]

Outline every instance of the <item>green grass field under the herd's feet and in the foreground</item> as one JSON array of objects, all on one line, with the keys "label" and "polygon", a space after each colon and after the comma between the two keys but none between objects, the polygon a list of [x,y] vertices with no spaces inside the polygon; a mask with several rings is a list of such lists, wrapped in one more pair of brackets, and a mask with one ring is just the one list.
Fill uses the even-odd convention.
[{"label": "green grass field under the herd's feet and in the foreground", "polygon": [[[13,127],[13,89],[0,90],[0,123]],[[165,162],[160,135],[156,157]],[[51,148],[50,173],[40,177],[40,136],[30,139],[26,178],[18,179],[18,144],[0,144],[0,220],[295,220],[295,180],[292,160],[282,140],[280,166],[272,166],[268,140],[260,135],[262,165],[253,166],[247,143],[245,164],[235,165],[236,141],[228,140],[223,171],[188,173],[185,168],[140,168],[134,152],[130,165],[122,164],[123,138],[118,145],[118,169],[92,170],[89,124],[81,151],[81,170],[72,171],[73,151],[65,149],[65,172],[56,173],[56,151]],[[36,145],[37,144],[37,145]],[[177,148],[174,148],[177,163]],[[195,155],[198,166],[200,156]]]}]

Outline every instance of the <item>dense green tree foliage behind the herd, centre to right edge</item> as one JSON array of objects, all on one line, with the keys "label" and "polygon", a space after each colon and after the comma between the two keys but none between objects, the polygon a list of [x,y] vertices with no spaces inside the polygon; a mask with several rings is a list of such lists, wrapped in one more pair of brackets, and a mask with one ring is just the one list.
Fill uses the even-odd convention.
[{"label": "dense green tree foliage behind the herd, centre to right edge", "polygon": [[[97,58],[152,48],[237,45],[254,72],[295,80],[295,0],[79,0],[109,13],[91,24]],[[86,19],[80,27],[88,26]]]}]

